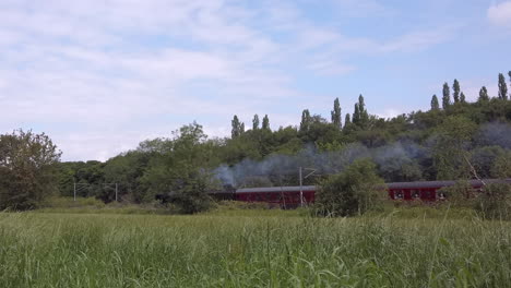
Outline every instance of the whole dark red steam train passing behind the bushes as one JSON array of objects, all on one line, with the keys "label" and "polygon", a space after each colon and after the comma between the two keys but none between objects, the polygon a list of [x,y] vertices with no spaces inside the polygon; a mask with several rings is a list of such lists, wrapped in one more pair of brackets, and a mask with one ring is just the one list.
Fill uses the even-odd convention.
[{"label": "whole dark red steam train passing behind the bushes", "polygon": [[[382,189],[387,190],[391,200],[435,202],[447,199],[442,188],[452,187],[456,181],[417,181],[387,183]],[[484,179],[470,180],[468,184],[476,191],[483,191],[485,184],[508,183],[511,179]],[[262,202],[282,208],[294,208],[301,204],[314,203],[317,187],[268,187],[268,188],[226,188],[218,191],[210,191],[215,200],[233,200],[242,202]]]}]

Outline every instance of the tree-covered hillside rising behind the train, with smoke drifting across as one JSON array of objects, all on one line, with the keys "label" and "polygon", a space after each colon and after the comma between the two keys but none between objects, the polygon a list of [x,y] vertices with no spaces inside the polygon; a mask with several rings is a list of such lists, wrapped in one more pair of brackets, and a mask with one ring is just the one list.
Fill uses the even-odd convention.
[{"label": "tree-covered hillside rising behind the train, with smoke drifting across", "polygon": [[357,158],[370,158],[388,182],[511,177],[511,100],[506,77],[498,81],[498,95],[482,87],[468,103],[454,80],[428,111],[392,119],[371,115],[360,95],[353,110],[334,99],[329,119],[305,109],[298,125],[272,128],[255,115],[249,128],[234,116],[225,139],[194,122],[106,163],[59,164],[59,193],[73,195],[76,183],[80,196],[108,202],[114,188],[105,183],[118,183],[120,197],[144,202],[183,189],[293,185],[299,167],[317,170],[306,179],[313,184]]}]

